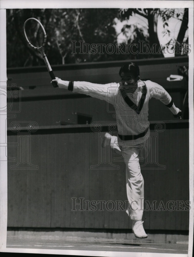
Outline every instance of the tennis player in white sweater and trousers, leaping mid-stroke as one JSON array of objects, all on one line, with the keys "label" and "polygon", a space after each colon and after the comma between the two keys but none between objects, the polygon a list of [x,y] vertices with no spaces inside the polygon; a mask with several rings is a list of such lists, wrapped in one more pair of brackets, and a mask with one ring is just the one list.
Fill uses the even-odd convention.
[{"label": "tennis player in white sweater and trousers, leaping mid-stroke", "polygon": [[[171,96],[160,85],[150,80],[140,80],[139,67],[135,63],[120,68],[120,83],[95,84],[85,81],[64,81],[56,77],[59,88],[108,101],[116,110],[118,136],[105,134],[103,146],[110,143],[115,152],[123,155],[126,164],[126,187],[129,201],[127,214],[132,220],[132,231],[137,238],[146,238],[142,215],[144,204],[144,179],[140,170],[140,158],[145,158],[145,143],[149,140],[148,102],[154,97],[164,103],[175,117],[181,111]],[[143,125],[143,126],[142,126]],[[144,130],[142,130],[144,127]]]}]

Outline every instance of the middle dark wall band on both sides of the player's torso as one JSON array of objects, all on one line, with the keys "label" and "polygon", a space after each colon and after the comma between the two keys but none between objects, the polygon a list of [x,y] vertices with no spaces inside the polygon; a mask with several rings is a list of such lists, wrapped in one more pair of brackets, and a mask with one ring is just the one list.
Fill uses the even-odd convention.
[{"label": "middle dark wall band on both sides of the player's torso", "polygon": [[[182,109],[182,100],[179,93],[171,93],[175,105]],[[13,102],[13,110],[18,109],[18,102]],[[67,99],[34,99],[22,101],[20,112],[10,112],[7,118],[7,127],[15,121],[34,121],[38,126],[51,126],[67,123],[77,123],[76,113],[91,117],[94,121],[115,121],[114,107],[107,105],[104,100],[91,97]],[[13,116],[14,115],[14,116]],[[149,120],[173,120],[172,112],[159,100],[151,99],[149,102]]]}]

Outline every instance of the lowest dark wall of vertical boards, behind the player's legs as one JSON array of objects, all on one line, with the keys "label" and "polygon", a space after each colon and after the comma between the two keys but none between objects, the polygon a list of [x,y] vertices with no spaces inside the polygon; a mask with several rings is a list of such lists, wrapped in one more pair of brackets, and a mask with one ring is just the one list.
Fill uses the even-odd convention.
[{"label": "lowest dark wall of vertical boards, behind the player's legs", "polygon": [[[8,143],[17,140],[17,134],[8,135]],[[156,164],[153,169],[142,169],[145,200],[157,201],[156,207],[160,201],[166,205],[169,200],[189,200],[188,140],[188,126],[167,127],[158,134],[158,163],[166,169],[156,169]],[[130,228],[122,210],[100,211],[99,205],[95,211],[72,210],[72,198],[77,198],[76,202],[78,198],[114,203],[127,200],[125,166],[113,161],[116,154],[112,153],[112,164],[91,169],[99,163],[98,142],[98,133],[91,132],[55,134],[48,129],[47,134],[32,133],[30,163],[38,169],[24,170],[10,168],[18,163],[18,151],[9,146],[8,157],[16,161],[8,161],[8,227]],[[143,219],[146,229],[189,228],[188,211],[146,210]]]}]

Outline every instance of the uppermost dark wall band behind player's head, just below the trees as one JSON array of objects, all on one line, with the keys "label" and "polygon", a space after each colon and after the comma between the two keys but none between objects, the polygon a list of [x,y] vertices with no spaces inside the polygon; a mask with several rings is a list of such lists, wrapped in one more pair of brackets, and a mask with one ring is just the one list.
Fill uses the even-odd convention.
[{"label": "uppermost dark wall band behind player's head, just below the trees", "polygon": [[[63,80],[89,81],[98,84],[119,82],[119,69],[127,62],[128,61],[56,66],[55,76]],[[178,74],[179,66],[188,65],[188,57],[134,60],[134,62],[139,65],[141,79],[150,79],[168,88],[169,86],[171,87],[171,85],[176,87],[179,81],[169,82],[166,78],[171,74]],[[18,87],[23,88],[52,87],[50,84],[50,76],[44,66],[37,68],[7,69],[7,74],[9,78],[12,78],[12,80],[8,82],[10,85],[16,84]]]}]

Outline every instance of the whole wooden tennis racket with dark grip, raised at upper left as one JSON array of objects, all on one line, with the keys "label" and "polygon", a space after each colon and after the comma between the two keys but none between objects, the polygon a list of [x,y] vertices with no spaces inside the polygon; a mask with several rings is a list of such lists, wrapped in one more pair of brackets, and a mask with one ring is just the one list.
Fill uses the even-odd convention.
[{"label": "whole wooden tennis racket with dark grip, raised at upper left", "polygon": [[[42,54],[50,77],[52,78],[52,80],[55,79],[55,75],[44,52],[44,46],[46,43],[46,32],[43,25],[39,22],[39,20],[35,18],[27,19],[24,23],[24,34],[30,47],[38,50]],[[53,87],[58,87],[57,82],[52,83],[52,85]]]}]

